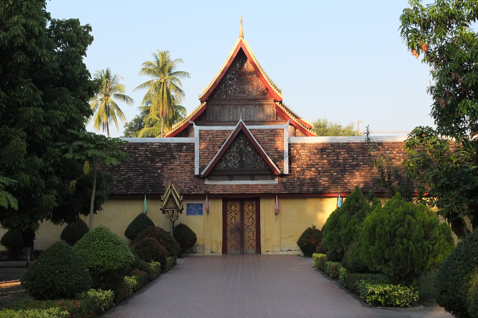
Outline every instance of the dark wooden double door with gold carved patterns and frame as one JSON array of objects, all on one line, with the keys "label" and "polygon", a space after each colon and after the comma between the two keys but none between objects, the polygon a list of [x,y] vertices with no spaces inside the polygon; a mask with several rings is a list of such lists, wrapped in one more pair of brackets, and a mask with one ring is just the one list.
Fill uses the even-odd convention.
[{"label": "dark wooden double door with gold carved patterns and frame", "polygon": [[261,254],[259,198],[222,200],[222,254]]}]

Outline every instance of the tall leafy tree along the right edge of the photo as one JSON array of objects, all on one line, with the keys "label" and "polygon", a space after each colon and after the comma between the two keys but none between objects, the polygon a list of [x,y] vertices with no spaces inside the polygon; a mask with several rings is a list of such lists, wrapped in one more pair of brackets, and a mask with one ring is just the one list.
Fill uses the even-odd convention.
[{"label": "tall leafy tree along the right edge of the photo", "polygon": [[[402,39],[413,56],[430,66],[428,93],[433,99],[436,131],[430,127],[413,131],[405,165],[422,190],[427,190],[422,192],[428,193],[428,202],[438,206],[454,232],[463,237],[469,232],[465,216],[478,225],[474,190],[478,177],[478,34],[472,28],[478,18],[478,1],[435,0],[423,5],[410,0],[409,4],[400,17]],[[438,135],[455,138],[456,143]]]}]

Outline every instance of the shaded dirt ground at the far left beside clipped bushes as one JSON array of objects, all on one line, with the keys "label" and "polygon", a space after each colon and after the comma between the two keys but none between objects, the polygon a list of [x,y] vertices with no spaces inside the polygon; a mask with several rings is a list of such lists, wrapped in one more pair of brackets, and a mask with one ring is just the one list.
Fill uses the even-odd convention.
[{"label": "shaded dirt ground at the far left beside clipped bushes", "polygon": [[0,310],[31,299],[20,285],[20,277],[26,270],[23,267],[0,267]]}]

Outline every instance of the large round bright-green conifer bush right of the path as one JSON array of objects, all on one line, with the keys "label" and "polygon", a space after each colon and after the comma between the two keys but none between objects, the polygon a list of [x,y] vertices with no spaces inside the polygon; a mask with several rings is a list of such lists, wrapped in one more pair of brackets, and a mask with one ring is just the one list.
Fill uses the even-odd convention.
[{"label": "large round bright-green conifer bush right of the path", "polygon": [[454,246],[445,223],[423,204],[405,202],[397,193],[364,220],[356,253],[371,270],[394,283],[410,284],[438,268]]}]

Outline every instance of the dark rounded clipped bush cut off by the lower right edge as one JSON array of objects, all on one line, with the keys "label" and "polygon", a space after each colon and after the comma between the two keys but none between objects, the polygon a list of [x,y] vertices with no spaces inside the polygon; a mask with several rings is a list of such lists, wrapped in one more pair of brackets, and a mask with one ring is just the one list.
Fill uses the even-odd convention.
[{"label": "dark rounded clipped bush cut off by the lower right edge", "polygon": [[474,230],[445,258],[435,279],[433,295],[441,307],[458,318],[473,317],[467,297],[478,268],[478,231]]}]

